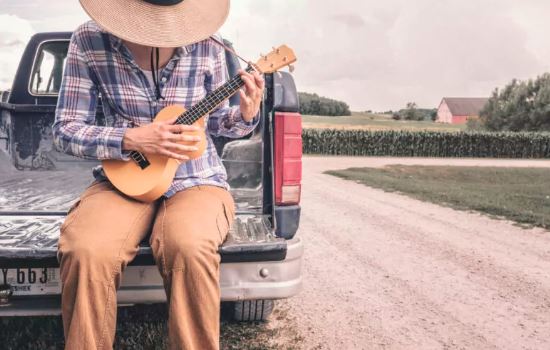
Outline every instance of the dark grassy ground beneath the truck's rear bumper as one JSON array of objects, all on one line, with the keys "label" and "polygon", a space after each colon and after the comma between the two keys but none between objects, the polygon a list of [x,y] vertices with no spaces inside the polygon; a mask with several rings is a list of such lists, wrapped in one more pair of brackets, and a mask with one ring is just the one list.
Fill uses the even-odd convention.
[{"label": "dark grassy ground beneath the truck's rear bumper", "polygon": [[[295,332],[292,322],[288,322],[287,313],[287,309],[278,307],[269,322],[234,323],[222,308],[220,348],[300,348],[303,339]],[[114,348],[167,349],[166,319],[165,304],[119,308]],[[0,339],[1,349],[63,349],[63,323],[60,316],[3,317],[0,318]]]}]

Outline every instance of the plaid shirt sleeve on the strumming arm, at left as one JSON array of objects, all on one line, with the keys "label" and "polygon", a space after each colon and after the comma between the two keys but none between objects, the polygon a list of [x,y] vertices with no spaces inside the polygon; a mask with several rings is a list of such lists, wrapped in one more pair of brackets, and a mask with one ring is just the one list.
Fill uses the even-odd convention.
[{"label": "plaid shirt sleeve on the strumming arm, at left", "polygon": [[76,31],[71,37],[61,83],[53,141],[61,152],[85,159],[127,160],[122,152],[126,128],[97,126],[98,84]]}]

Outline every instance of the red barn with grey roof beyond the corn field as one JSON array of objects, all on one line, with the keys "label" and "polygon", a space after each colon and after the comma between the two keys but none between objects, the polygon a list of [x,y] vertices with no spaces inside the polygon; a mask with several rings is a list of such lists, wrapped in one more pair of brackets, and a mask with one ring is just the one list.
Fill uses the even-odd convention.
[{"label": "red barn with grey roof beyond the corn field", "polygon": [[465,124],[470,118],[478,118],[488,98],[445,97],[437,110],[437,121],[448,124]]}]

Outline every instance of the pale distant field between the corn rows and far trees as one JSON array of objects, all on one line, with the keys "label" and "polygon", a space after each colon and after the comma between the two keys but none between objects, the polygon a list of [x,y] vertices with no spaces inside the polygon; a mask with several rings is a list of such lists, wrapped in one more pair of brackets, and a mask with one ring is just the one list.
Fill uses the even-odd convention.
[{"label": "pale distant field between the corn rows and far trees", "polygon": [[306,129],[359,129],[359,130],[408,130],[448,131],[466,130],[465,125],[435,123],[432,121],[393,120],[390,115],[354,112],[347,117],[302,116]]}]

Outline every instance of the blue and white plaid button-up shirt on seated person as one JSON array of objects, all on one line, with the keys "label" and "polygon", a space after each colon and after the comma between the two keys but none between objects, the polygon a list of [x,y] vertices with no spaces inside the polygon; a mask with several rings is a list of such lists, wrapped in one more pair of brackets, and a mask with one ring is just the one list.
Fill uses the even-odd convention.
[{"label": "blue and white plaid button-up shirt on seated person", "polygon": [[[150,123],[164,107],[179,104],[189,108],[228,79],[225,51],[212,40],[179,47],[159,75],[164,100],[157,100],[122,41],[95,22],[81,25],[73,34],[53,124],[56,147],[86,159],[129,160],[122,151],[127,128]],[[96,107],[101,94],[106,126],[96,125]],[[238,106],[223,102],[205,117],[208,146],[197,159],[184,162],[167,193],[196,185],[215,185],[229,190],[227,173],[211,136],[239,138],[252,132],[259,115],[245,122]],[[94,170],[105,179],[101,168]]]}]

